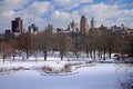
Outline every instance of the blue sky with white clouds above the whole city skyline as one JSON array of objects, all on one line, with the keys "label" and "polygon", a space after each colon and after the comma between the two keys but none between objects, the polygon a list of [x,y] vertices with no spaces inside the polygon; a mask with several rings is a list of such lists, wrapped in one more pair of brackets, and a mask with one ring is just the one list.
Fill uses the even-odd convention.
[{"label": "blue sky with white clouds above the whole city skyline", "polygon": [[27,29],[35,23],[43,30],[48,23],[66,28],[72,21],[80,21],[84,14],[90,24],[92,17],[96,26],[120,26],[133,28],[133,0],[0,0],[0,32],[11,29],[11,20],[23,19]]}]

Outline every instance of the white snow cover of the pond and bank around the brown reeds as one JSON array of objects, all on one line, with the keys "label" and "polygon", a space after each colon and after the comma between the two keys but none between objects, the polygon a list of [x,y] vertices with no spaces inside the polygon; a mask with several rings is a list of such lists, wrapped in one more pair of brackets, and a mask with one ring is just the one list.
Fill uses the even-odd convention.
[{"label": "white snow cover of the pond and bank around the brown reeds", "polygon": [[[96,63],[78,68],[69,76],[42,76],[34,67],[60,68],[65,63],[84,61],[6,61],[0,68],[23,67],[25,70],[0,73],[0,89],[132,89],[133,66],[125,63]],[[28,69],[28,70],[27,70]],[[30,69],[30,70],[29,70]]]}]

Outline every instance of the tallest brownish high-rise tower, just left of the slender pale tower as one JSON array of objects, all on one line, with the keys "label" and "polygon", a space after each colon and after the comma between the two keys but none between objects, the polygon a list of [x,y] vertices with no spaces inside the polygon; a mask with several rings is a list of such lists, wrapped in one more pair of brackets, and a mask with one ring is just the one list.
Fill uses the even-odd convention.
[{"label": "tallest brownish high-rise tower, just left of the slender pale tower", "polygon": [[89,34],[89,23],[88,23],[88,19],[85,18],[85,16],[81,17],[80,20],[80,32],[82,34]]}]

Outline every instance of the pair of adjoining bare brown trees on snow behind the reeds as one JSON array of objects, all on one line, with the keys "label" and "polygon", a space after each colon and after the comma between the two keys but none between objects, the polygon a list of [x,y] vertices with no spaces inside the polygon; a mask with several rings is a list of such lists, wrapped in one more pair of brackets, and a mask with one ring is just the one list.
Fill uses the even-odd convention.
[{"label": "pair of adjoining bare brown trees on snow behind the reeds", "polygon": [[33,36],[32,38],[32,47],[34,51],[42,51],[44,55],[44,60],[47,60],[47,53],[48,51],[60,51],[61,60],[63,59],[63,56],[69,51],[71,48],[71,39],[68,37],[66,33],[59,32],[59,33],[52,33],[49,31],[40,32],[37,36]]}]

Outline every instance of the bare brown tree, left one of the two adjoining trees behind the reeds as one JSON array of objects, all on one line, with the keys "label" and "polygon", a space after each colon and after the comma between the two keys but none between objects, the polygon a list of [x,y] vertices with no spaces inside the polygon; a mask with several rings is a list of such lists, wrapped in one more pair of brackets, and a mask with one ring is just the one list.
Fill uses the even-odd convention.
[{"label": "bare brown tree, left one of the two adjoining trees behind the reeds", "polygon": [[47,52],[52,49],[52,32],[43,31],[33,37],[33,48],[40,50],[44,55],[44,60],[47,60]]}]

